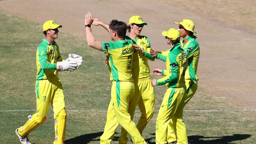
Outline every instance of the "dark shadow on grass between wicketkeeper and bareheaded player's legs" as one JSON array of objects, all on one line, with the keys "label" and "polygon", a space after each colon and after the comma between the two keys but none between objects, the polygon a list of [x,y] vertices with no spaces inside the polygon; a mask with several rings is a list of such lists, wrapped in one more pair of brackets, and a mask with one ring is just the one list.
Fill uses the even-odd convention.
[{"label": "dark shadow on grass between wicketkeeper and bareheaded player's legs", "polygon": [[[70,138],[68,140],[65,140],[65,144],[87,144],[89,142],[93,142],[93,141],[100,141],[100,137],[103,134],[103,131],[98,132],[98,133],[88,133],[85,135],[80,135],[78,137],[75,138]],[[117,134],[117,133],[115,133]],[[95,139],[97,138],[97,139]],[[114,137],[112,141],[118,141],[119,137]]]}]

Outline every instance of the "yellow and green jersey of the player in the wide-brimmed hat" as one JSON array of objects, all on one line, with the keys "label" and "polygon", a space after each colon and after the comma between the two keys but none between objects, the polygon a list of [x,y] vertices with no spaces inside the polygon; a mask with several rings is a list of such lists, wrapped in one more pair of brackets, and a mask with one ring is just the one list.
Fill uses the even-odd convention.
[{"label": "yellow and green jersey of the player in the wide-brimmed hat", "polygon": [[197,65],[199,61],[199,44],[197,41],[195,41],[197,37],[195,35],[191,35],[186,37],[188,42],[184,43],[184,41],[181,42],[181,46],[186,52],[187,55],[187,63],[188,67],[185,72],[185,79],[191,80],[191,81],[197,81]]}]

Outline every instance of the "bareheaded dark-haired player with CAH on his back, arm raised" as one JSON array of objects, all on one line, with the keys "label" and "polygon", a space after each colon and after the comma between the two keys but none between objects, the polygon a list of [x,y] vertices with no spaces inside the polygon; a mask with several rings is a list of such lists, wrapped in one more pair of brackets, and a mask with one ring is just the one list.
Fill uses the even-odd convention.
[{"label": "bareheaded dark-haired player with CAH on his back, arm raised", "polygon": [[[124,22],[118,20],[112,20],[110,22],[109,28],[107,29],[113,42],[96,41],[91,32],[92,23],[93,17],[91,13],[88,12],[85,16],[85,35],[88,45],[108,54],[110,63],[109,74],[110,80],[112,81],[111,101],[108,107],[105,127],[112,125],[111,118],[113,117],[109,117],[109,115],[112,116],[114,113],[117,122],[128,131],[136,144],[146,144],[128,113],[129,102],[132,99],[135,89],[132,78],[134,46],[137,48],[139,48],[139,46],[135,45],[132,39],[126,36],[127,26]],[[105,130],[106,129],[104,129],[104,131]],[[100,143],[110,143],[110,141],[111,140],[101,141]]]}]

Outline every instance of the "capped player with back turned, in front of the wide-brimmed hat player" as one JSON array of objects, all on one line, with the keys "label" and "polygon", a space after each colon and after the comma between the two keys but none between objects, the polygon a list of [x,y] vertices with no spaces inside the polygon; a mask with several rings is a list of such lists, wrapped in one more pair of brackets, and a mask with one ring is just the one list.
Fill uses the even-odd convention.
[{"label": "capped player with back turned, in front of the wide-brimmed hat player", "polygon": [[166,59],[166,70],[155,69],[154,75],[166,75],[161,79],[153,79],[152,86],[166,85],[168,87],[156,120],[156,144],[167,143],[167,128],[173,117],[182,122],[176,127],[176,123],[171,123],[177,135],[178,144],[188,144],[186,126],[183,122],[183,107],[186,98],[186,85],[184,71],[186,70],[186,53],[180,48],[180,33],[176,29],[163,31],[167,44],[172,48]]}]

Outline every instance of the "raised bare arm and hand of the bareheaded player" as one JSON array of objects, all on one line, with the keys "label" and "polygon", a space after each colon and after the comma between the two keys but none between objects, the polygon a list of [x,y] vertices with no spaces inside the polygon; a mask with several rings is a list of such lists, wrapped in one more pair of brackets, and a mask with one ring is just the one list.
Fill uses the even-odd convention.
[{"label": "raised bare arm and hand of the bareheaded player", "polygon": [[[93,16],[92,16],[92,14],[90,12],[88,12],[85,15],[84,24],[85,25],[88,25],[88,24],[91,25],[92,23],[93,23]],[[103,51],[102,47],[101,47],[101,42],[96,41],[96,39],[93,37],[93,33],[91,32],[91,26],[86,26],[85,27],[85,36],[86,36],[88,45],[91,48],[95,48],[97,50]]]}]

